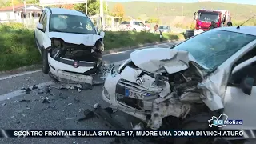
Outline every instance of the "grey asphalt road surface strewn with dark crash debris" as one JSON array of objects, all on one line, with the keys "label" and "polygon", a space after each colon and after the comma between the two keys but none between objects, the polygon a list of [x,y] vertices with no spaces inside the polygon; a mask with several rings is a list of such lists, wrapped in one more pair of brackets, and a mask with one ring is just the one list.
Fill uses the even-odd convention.
[{"label": "grey asphalt road surface strewn with dark crash debris", "polygon": [[[166,43],[150,47],[169,47]],[[134,50],[103,57],[106,64],[120,62],[130,58]],[[50,85],[50,88],[47,89]],[[22,88],[34,86],[27,94]],[[106,105],[102,101],[102,86],[91,90],[59,90],[47,74],[37,70],[28,74],[10,78],[0,78],[0,127],[2,129],[109,129],[97,118],[78,121],[83,112],[91,109],[95,103]],[[45,100],[48,99],[48,100]],[[132,119],[117,112],[114,118],[129,128]],[[1,138],[0,143],[110,143],[114,138]],[[135,142],[132,142],[135,143]]]}]

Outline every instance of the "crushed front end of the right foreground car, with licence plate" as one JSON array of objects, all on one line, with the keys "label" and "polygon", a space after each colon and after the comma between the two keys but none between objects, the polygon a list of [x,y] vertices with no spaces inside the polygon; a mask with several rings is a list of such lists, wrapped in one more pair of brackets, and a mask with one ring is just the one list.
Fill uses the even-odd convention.
[{"label": "crushed front end of the right foreground car, with licence plate", "polygon": [[[184,119],[206,111],[203,91],[198,88],[202,74],[194,62],[189,62],[188,58],[181,58],[184,60],[181,62],[180,56],[184,55],[175,52],[169,60],[142,60],[142,65],[136,58],[133,62],[131,56],[122,66],[111,70],[103,87],[103,99],[114,108],[146,122],[151,129],[159,129],[163,118]],[[150,66],[153,63],[166,69],[153,72],[154,66]],[[145,70],[147,66],[150,68]]]}]

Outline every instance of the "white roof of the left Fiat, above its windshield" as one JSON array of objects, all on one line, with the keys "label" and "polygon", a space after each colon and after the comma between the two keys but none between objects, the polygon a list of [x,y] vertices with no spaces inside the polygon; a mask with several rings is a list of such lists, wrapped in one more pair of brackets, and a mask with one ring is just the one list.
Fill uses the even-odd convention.
[{"label": "white roof of the left Fiat, above its windshield", "polygon": [[44,8],[44,10],[50,11],[51,14],[70,14],[70,15],[87,17],[86,14],[78,10],[69,10],[69,9],[63,9],[63,8],[48,8],[48,7]]}]

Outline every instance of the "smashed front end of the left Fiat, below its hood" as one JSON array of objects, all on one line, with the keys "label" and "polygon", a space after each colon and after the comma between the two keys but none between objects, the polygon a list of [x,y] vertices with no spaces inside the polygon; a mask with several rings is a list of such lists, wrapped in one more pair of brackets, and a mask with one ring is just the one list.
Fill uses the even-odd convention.
[{"label": "smashed front end of the left Fiat, below its hood", "polygon": [[95,46],[64,42],[61,38],[51,38],[48,49],[50,74],[61,82],[81,82],[92,84],[92,74],[102,66],[102,39]]}]

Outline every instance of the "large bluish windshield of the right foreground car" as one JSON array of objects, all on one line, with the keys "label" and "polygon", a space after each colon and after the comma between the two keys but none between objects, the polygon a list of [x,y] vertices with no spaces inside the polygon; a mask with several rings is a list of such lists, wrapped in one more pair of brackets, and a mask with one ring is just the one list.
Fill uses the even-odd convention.
[{"label": "large bluish windshield of the right foreground car", "polygon": [[255,36],[248,34],[209,30],[182,42],[174,50],[189,52],[199,65],[211,71],[255,39]]}]

